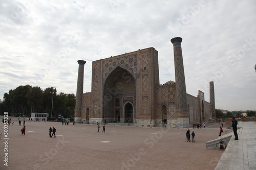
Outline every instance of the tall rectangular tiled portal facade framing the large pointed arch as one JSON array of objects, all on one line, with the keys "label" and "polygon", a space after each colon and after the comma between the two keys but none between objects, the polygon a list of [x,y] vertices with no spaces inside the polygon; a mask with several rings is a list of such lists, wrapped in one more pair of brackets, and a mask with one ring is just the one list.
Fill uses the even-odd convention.
[{"label": "tall rectangular tiled portal facade framing the large pointed arch", "polygon": [[[98,117],[101,117],[101,115],[104,115],[104,118],[113,116],[112,113],[117,109],[120,111],[120,118],[123,121],[123,107],[128,100],[127,98],[129,98],[132,99],[134,123],[154,124],[152,122],[154,122],[156,107],[155,86],[159,84],[158,52],[155,48],[146,48],[128,54],[93,61],[92,68],[90,119],[93,122],[96,122],[96,120],[100,122],[101,120]],[[113,98],[109,97],[106,99],[106,96],[103,96],[106,90],[104,88],[106,85],[114,86],[114,84],[110,84],[108,78],[113,76],[113,72],[119,68],[120,70],[126,70],[129,76],[135,80],[135,89],[127,86],[118,90],[119,96],[115,94],[112,96]],[[121,81],[126,80],[122,79],[119,83],[122,83]],[[129,95],[133,91],[136,93]],[[124,94],[125,96],[123,96]],[[114,106],[114,101],[117,97],[120,97],[120,107]]]}]

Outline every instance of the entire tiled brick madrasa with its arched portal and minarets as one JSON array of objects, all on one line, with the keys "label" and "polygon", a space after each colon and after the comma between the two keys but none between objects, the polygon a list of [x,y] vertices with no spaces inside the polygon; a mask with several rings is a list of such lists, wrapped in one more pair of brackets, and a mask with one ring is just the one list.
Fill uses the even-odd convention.
[{"label": "entire tiled brick madrasa with its arched portal and minarets", "polygon": [[159,84],[158,52],[145,48],[92,62],[92,91],[83,93],[86,61],[78,60],[75,122],[135,127],[189,128],[216,117],[214,82],[204,92],[186,93],[182,38],[174,46],[175,82]]}]

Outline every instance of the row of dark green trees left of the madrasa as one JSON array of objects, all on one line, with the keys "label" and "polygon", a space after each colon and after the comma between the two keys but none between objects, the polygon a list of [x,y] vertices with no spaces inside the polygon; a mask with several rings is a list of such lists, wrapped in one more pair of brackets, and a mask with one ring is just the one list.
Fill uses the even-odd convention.
[{"label": "row of dark green trees left of the madrasa", "polygon": [[[53,102],[53,103],[52,103]],[[40,87],[31,85],[18,86],[4,94],[3,102],[0,103],[0,114],[8,112],[10,116],[30,117],[31,113],[51,113],[53,117],[61,115],[71,118],[75,113],[76,96],[60,92],[54,87],[42,90]],[[52,107],[53,106],[53,107]]]}]

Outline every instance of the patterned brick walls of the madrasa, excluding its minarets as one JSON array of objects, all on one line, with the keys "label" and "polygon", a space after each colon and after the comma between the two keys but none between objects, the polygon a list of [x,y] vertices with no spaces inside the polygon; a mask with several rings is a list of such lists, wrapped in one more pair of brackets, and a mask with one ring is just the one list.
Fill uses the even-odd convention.
[{"label": "patterned brick walls of the madrasa, excluding its minarets", "polygon": [[[110,81],[122,71],[127,74],[118,83],[125,85],[130,80],[124,79],[127,77],[134,81],[133,86],[118,88],[114,80]],[[109,96],[105,95],[106,87],[111,89]],[[205,101],[202,91],[198,91],[198,96],[186,96],[190,124],[203,123],[212,117],[211,104]],[[118,106],[116,100],[119,101]],[[106,120],[108,123],[117,120],[116,113],[119,113],[120,122],[125,122],[127,103],[133,106],[135,125],[161,127],[166,118],[167,127],[177,127],[176,84],[159,85],[158,52],[153,47],[92,63],[92,92],[82,95],[82,120],[89,119],[90,123]],[[166,115],[163,115],[164,107]]]}]

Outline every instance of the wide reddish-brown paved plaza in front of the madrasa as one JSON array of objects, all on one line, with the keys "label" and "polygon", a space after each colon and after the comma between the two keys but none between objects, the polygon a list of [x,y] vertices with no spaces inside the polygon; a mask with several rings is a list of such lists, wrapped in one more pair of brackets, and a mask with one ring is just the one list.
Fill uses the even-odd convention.
[{"label": "wide reddish-brown paved plaza in front of the madrasa", "polygon": [[[53,126],[56,138],[49,137]],[[14,122],[8,152],[3,135],[0,140],[0,169],[215,169],[224,151],[206,150],[206,142],[218,138],[219,126],[195,129],[192,143],[185,140],[186,129],[106,126],[101,133],[100,125],[98,133],[96,125],[26,122],[22,136],[22,126]]]}]

